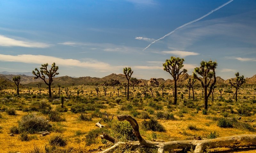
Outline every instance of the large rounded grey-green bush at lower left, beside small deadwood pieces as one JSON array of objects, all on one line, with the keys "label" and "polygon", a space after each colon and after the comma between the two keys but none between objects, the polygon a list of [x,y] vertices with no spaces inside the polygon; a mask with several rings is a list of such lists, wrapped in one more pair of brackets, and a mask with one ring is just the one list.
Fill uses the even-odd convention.
[{"label": "large rounded grey-green bush at lower left, beside small deadwood pieces", "polygon": [[27,131],[29,133],[39,132],[39,131],[50,131],[52,125],[49,124],[42,116],[37,116],[35,113],[22,116],[18,121],[19,130],[21,132]]}]

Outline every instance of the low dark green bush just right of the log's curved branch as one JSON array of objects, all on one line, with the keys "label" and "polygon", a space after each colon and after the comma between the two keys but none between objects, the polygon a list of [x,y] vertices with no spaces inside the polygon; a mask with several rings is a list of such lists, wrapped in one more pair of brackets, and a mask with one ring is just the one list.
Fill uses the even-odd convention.
[{"label": "low dark green bush just right of the log's curved branch", "polygon": [[156,119],[151,118],[149,121],[143,120],[141,122],[142,128],[146,130],[165,132],[165,128]]}]

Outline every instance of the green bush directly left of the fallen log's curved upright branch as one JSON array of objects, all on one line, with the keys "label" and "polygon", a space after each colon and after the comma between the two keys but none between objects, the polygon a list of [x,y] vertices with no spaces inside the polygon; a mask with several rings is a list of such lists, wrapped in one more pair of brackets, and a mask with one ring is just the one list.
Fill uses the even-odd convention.
[{"label": "green bush directly left of the fallen log's curved upright branch", "polygon": [[111,125],[114,137],[120,141],[135,141],[136,136],[133,134],[132,125],[128,121],[116,121]]}]

